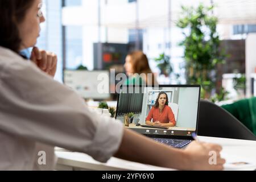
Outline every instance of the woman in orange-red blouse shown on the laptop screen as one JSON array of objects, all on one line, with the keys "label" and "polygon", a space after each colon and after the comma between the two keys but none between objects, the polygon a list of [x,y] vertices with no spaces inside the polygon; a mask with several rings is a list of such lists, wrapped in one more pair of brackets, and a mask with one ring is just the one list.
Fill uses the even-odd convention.
[{"label": "woman in orange-red blouse shown on the laptop screen", "polygon": [[[153,119],[153,122],[151,122],[151,119]],[[156,103],[146,118],[146,124],[151,126],[176,126],[174,113],[171,107],[168,106],[168,96],[165,92],[158,94]]]}]

